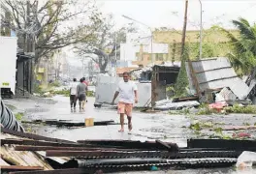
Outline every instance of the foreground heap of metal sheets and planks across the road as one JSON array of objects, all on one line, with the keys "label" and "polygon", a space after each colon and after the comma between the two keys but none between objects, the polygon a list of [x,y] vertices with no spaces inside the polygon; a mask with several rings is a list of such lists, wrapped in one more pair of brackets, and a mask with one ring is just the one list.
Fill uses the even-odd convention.
[{"label": "foreground heap of metal sheets and planks across the road", "polygon": [[12,174],[229,167],[242,151],[256,151],[255,141],[190,139],[186,148],[178,148],[160,140],[73,142],[3,128],[1,132],[1,169]]}]

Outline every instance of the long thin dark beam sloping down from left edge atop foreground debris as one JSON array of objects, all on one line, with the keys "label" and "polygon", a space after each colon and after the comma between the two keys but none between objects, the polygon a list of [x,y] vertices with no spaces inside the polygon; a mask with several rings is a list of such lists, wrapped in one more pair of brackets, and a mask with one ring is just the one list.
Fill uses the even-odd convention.
[{"label": "long thin dark beam sloping down from left edge atop foreground debris", "polygon": [[35,139],[35,140],[45,140],[45,141],[63,142],[63,143],[75,143],[74,141],[68,141],[68,140],[63,140],[63,139],[58,139],[58,138],[50,138],[47,136],[41,136],[41,135],[33,134],[33,133],[26,133],[26,132],[21,132],[21,131],[11,131],[11,130],[4,129],[2,127],[1,127],[1,132],[13,134],[13,135],[16,135],[19,137]]}]

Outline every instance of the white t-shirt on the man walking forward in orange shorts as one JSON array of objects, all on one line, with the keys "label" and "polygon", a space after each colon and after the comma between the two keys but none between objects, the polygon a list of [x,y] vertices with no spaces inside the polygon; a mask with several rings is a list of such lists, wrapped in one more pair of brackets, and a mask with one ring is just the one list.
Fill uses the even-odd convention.
[{"label": "white t-shirt on the man walking forward in orange shorts", "polygon": [[137,85],[133,81],[120,81],[116,89],[119,92],[119,102],[134,103],[134,91],[137,90]]}]

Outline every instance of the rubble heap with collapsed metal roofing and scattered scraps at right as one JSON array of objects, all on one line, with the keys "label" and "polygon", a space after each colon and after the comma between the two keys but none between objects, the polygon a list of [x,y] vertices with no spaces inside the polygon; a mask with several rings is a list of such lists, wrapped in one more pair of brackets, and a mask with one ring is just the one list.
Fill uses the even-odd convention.
[{"label": "rubble heap with collapsed metal roofing and scattered scraps at right", "polygon": [[209,108],[220,110],[234,103],[256,103],[256,68],[246,81],[243,81],[235,73],[228,58],[218,57],[187,62],[186,72],[192,97],[187,100],[181,99],[183,102],[156,102],[156,109],[177,110],[197,107],[200,102],[207,102]]}]

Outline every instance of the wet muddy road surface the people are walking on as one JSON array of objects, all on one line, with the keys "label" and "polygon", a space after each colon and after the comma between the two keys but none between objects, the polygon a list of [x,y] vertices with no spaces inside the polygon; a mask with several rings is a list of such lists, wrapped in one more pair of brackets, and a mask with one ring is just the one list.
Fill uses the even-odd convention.
[{"label": "wet muddy road surface the people are walking on", "polygon": [[[35,119],[62,119],[76,120],[84,122],[85,118],[94,118],[94,121],[113,120],[118,123],[119,118],[115,109],[94,108],[94,98],[89,98],[84,112],[71,112],[69,98],[56,96],[53,99],[15,99],[5,101],[7,104],[16,106],[16,112],[24,112],[22,120]],[[191,124],[199,124],[199,131],[189,129]],[[133,114],[132,134],[117,132],[118,125],[95,126],[89,128],[57,128],[55,126],[23,124],[27,131],[68,140],[81,139],[128,139],[128,140],[154,140],[175,142],[179,147],[186,146],[187,138],[208,137],[208,136],[232,136],[234,132],[248,132],[254,138],[255,130],[249,131],[216,131],[225,126],[232,125],[254,125],[256,117],[246,114],[230,115],[210,115],[210,116],[191,116],[191,115],[170,115],[168,112],[142,113],[139,110]],[[215,131],[209,131],[215,130]],[[220,135],[221,134],[221,135]],[[133,172],[130,172],[133,173]],[[142,173],[142,172],[135,172]],[[147,172],[146,172],[147,173]],[[152,172],[156,173],[156,172]],[[181,170],[181,171],[157,171],[157,173],[256,173],[256,170],[234,171],[234,169],[214,169],[214,170]]]}]

